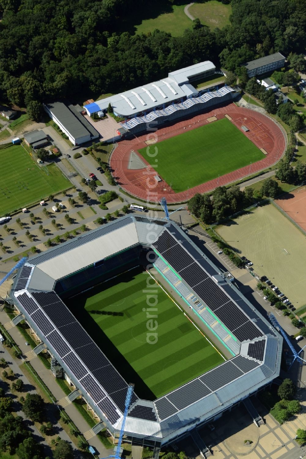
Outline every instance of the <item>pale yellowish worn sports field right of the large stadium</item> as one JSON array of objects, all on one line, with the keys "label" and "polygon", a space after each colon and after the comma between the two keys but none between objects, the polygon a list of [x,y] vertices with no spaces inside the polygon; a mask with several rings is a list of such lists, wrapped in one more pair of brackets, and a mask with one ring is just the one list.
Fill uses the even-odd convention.
[{"label": "pale yellowish worn sports field right of the large stadium", "polygon": [[272,280],[295,308],[306,303],[305,236],[273,204],[257,207],[219,226],[217,232],[254,263],[259,276]]}]

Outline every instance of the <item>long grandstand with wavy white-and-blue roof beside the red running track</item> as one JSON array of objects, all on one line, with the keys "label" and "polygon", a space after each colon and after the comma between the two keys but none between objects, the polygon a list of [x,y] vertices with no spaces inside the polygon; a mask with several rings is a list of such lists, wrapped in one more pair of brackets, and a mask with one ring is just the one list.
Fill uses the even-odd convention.
[{"label": "long grandstand with wavy white-and-blue roof beside the red running track", "polygon": [[[189,115],[191,113],[197,112],[203,108],[208,108],[219,102],[224,102],[232,99],[232,93],[234,90],[229,86],[223,86],[216,91],[207,91],[198,97],[193,97],[191,99],[186,99],[185,101],[169,105],[160,110],[154,110],[145,114],[145,116],[139,116],[132,118],[125,123],[122,123],[122,126],[125,129],[128,129],[132,132],[140,132],[145,128],[146,123],[157,120],[160,123],[164,121],[171,121],[182,116]],[[205,106],[203,106],[205,104]]]}]

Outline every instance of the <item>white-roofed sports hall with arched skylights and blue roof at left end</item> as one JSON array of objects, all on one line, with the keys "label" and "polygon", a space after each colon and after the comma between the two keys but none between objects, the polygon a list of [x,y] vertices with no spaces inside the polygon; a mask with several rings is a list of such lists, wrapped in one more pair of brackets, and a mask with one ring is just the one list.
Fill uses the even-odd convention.
[{"label": "white-roofed sports hall with arched skylights and blue roof at left end", "polygon": [[139,112],[151,111],[158,106],[168,105],[180,98],[198,95],[198,91],[189,84],[189,79],[195,79],[203,72],[214,71],[215,69],[216,67],[210,61],[199,62],[170,72],[167,78],[106,97],[106,99],[86,105],[84,108],[90,114],[98,110],[107,110],[108,105],[111,103],[117,115],[132,118]]}]

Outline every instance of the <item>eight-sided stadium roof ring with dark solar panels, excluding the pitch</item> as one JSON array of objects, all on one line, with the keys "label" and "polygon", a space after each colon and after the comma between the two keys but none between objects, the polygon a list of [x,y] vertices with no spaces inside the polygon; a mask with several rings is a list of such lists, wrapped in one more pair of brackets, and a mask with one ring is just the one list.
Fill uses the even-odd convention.
[{"label": "eight-sided stadium roof ring with dark solar panels, excluding the pitch", "polygon": [[153,249],[154,267],[169,283],[175,276],[172,288],[233,355],[154,402],[139,399],[135,387],[126,434],[165,444],[269,384],[279,374],[282,347],[273,326],[175,223],[118,218],[31,258],[10,295],[100,419],[111,431],[120,429],[128,384],[54,288],[58,280],[136,245]]}]

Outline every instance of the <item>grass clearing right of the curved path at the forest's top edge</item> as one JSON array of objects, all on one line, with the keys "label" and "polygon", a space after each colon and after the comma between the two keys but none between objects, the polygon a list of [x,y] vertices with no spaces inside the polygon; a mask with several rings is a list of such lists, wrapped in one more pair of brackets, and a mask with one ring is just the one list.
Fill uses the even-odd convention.
[{"label": "grass clearing right of the curved path at the forest's top edge", "polygon": [[221,29],[230,24],[229,16],[232,14],[232,7],[223,5],[217,0],[210,0],[205,3],[195,2],[189,6],[188,11],[193,17],[198,17],[204,26]]}]

